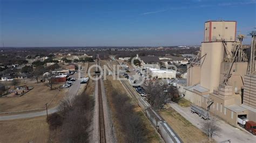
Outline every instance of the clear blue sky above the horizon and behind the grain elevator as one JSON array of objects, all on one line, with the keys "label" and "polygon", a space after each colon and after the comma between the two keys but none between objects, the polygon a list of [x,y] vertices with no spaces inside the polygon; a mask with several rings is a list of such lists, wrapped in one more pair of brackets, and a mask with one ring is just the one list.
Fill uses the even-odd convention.
[{"label": "clear blue sky above the horizon and behind the grain elevator", "polygon": [[[256,0],[0,0],[4,46],[200,45],[207,20],[256,27]],[[251,38],[247,37],[246,44]]]}]

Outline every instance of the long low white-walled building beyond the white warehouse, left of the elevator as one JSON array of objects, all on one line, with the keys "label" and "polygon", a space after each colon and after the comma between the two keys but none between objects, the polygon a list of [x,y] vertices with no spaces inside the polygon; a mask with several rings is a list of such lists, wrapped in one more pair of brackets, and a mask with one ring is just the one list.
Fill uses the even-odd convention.
[{"label": "long low white-walled building beyond the white warehouse, left of the elevator", "polygon": [[184,56],[172,56],[172,55],[167,55],[159,59],[165,63],[173,64],[173,65],[187,64],[190,61],[188,58]]}]

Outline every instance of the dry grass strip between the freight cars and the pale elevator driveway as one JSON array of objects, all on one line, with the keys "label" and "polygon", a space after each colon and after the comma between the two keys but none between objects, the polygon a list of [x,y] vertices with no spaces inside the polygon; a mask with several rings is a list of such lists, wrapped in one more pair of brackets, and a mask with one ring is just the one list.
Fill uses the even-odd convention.
[{"label": "dry grass strip between the freight cars and the pale elevator driveway", "polygon": [[207,135],[172,108],[160,111],[160,115],[184,142],[207,142]]}]

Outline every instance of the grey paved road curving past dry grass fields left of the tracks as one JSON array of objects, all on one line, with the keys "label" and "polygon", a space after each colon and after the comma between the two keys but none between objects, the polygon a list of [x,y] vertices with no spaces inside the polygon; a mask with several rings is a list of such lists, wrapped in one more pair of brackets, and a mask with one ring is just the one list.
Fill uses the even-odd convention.
[{"label": "grey paved road curving past dry grass fields left of the tracks", "polygon": [[[82,68],[81,76],[85,75],[86,69]],[[70,77],[75,77],[78,79],[78,73],[74,74]],[[77,95],[77,92],[80,88],[80,81],[73,82],[73,85],[68,89],[68,96],[70,97],[71,101],[73,98]],[[48,114],[54,113],[58,111],[58,106],[48,109]],[[44,116],[46,115],[46,110],[40,111],[40,112],[32,112],[32,113],[21,113],[18,115],[9,115],[9,116],[0,116],[0,120],[13,120],[13,119],[22,119],[22,118],[32,118],[32,117],[38,117],[38,116]]]}]

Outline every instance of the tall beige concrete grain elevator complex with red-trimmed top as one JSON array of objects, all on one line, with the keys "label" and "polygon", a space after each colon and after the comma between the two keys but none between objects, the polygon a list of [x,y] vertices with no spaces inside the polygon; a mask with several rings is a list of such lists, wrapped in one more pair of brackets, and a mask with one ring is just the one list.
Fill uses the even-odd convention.
[{"label": "tall beige concrete grain elevator complex with red-trimmed top", "polygon": [[186,99],[234,126],[240,116],[256,121],[256,76],[248,75],[245,36],[236,31],[235,21],[205,22],[204,41],[187,68],[183,90]]}]

